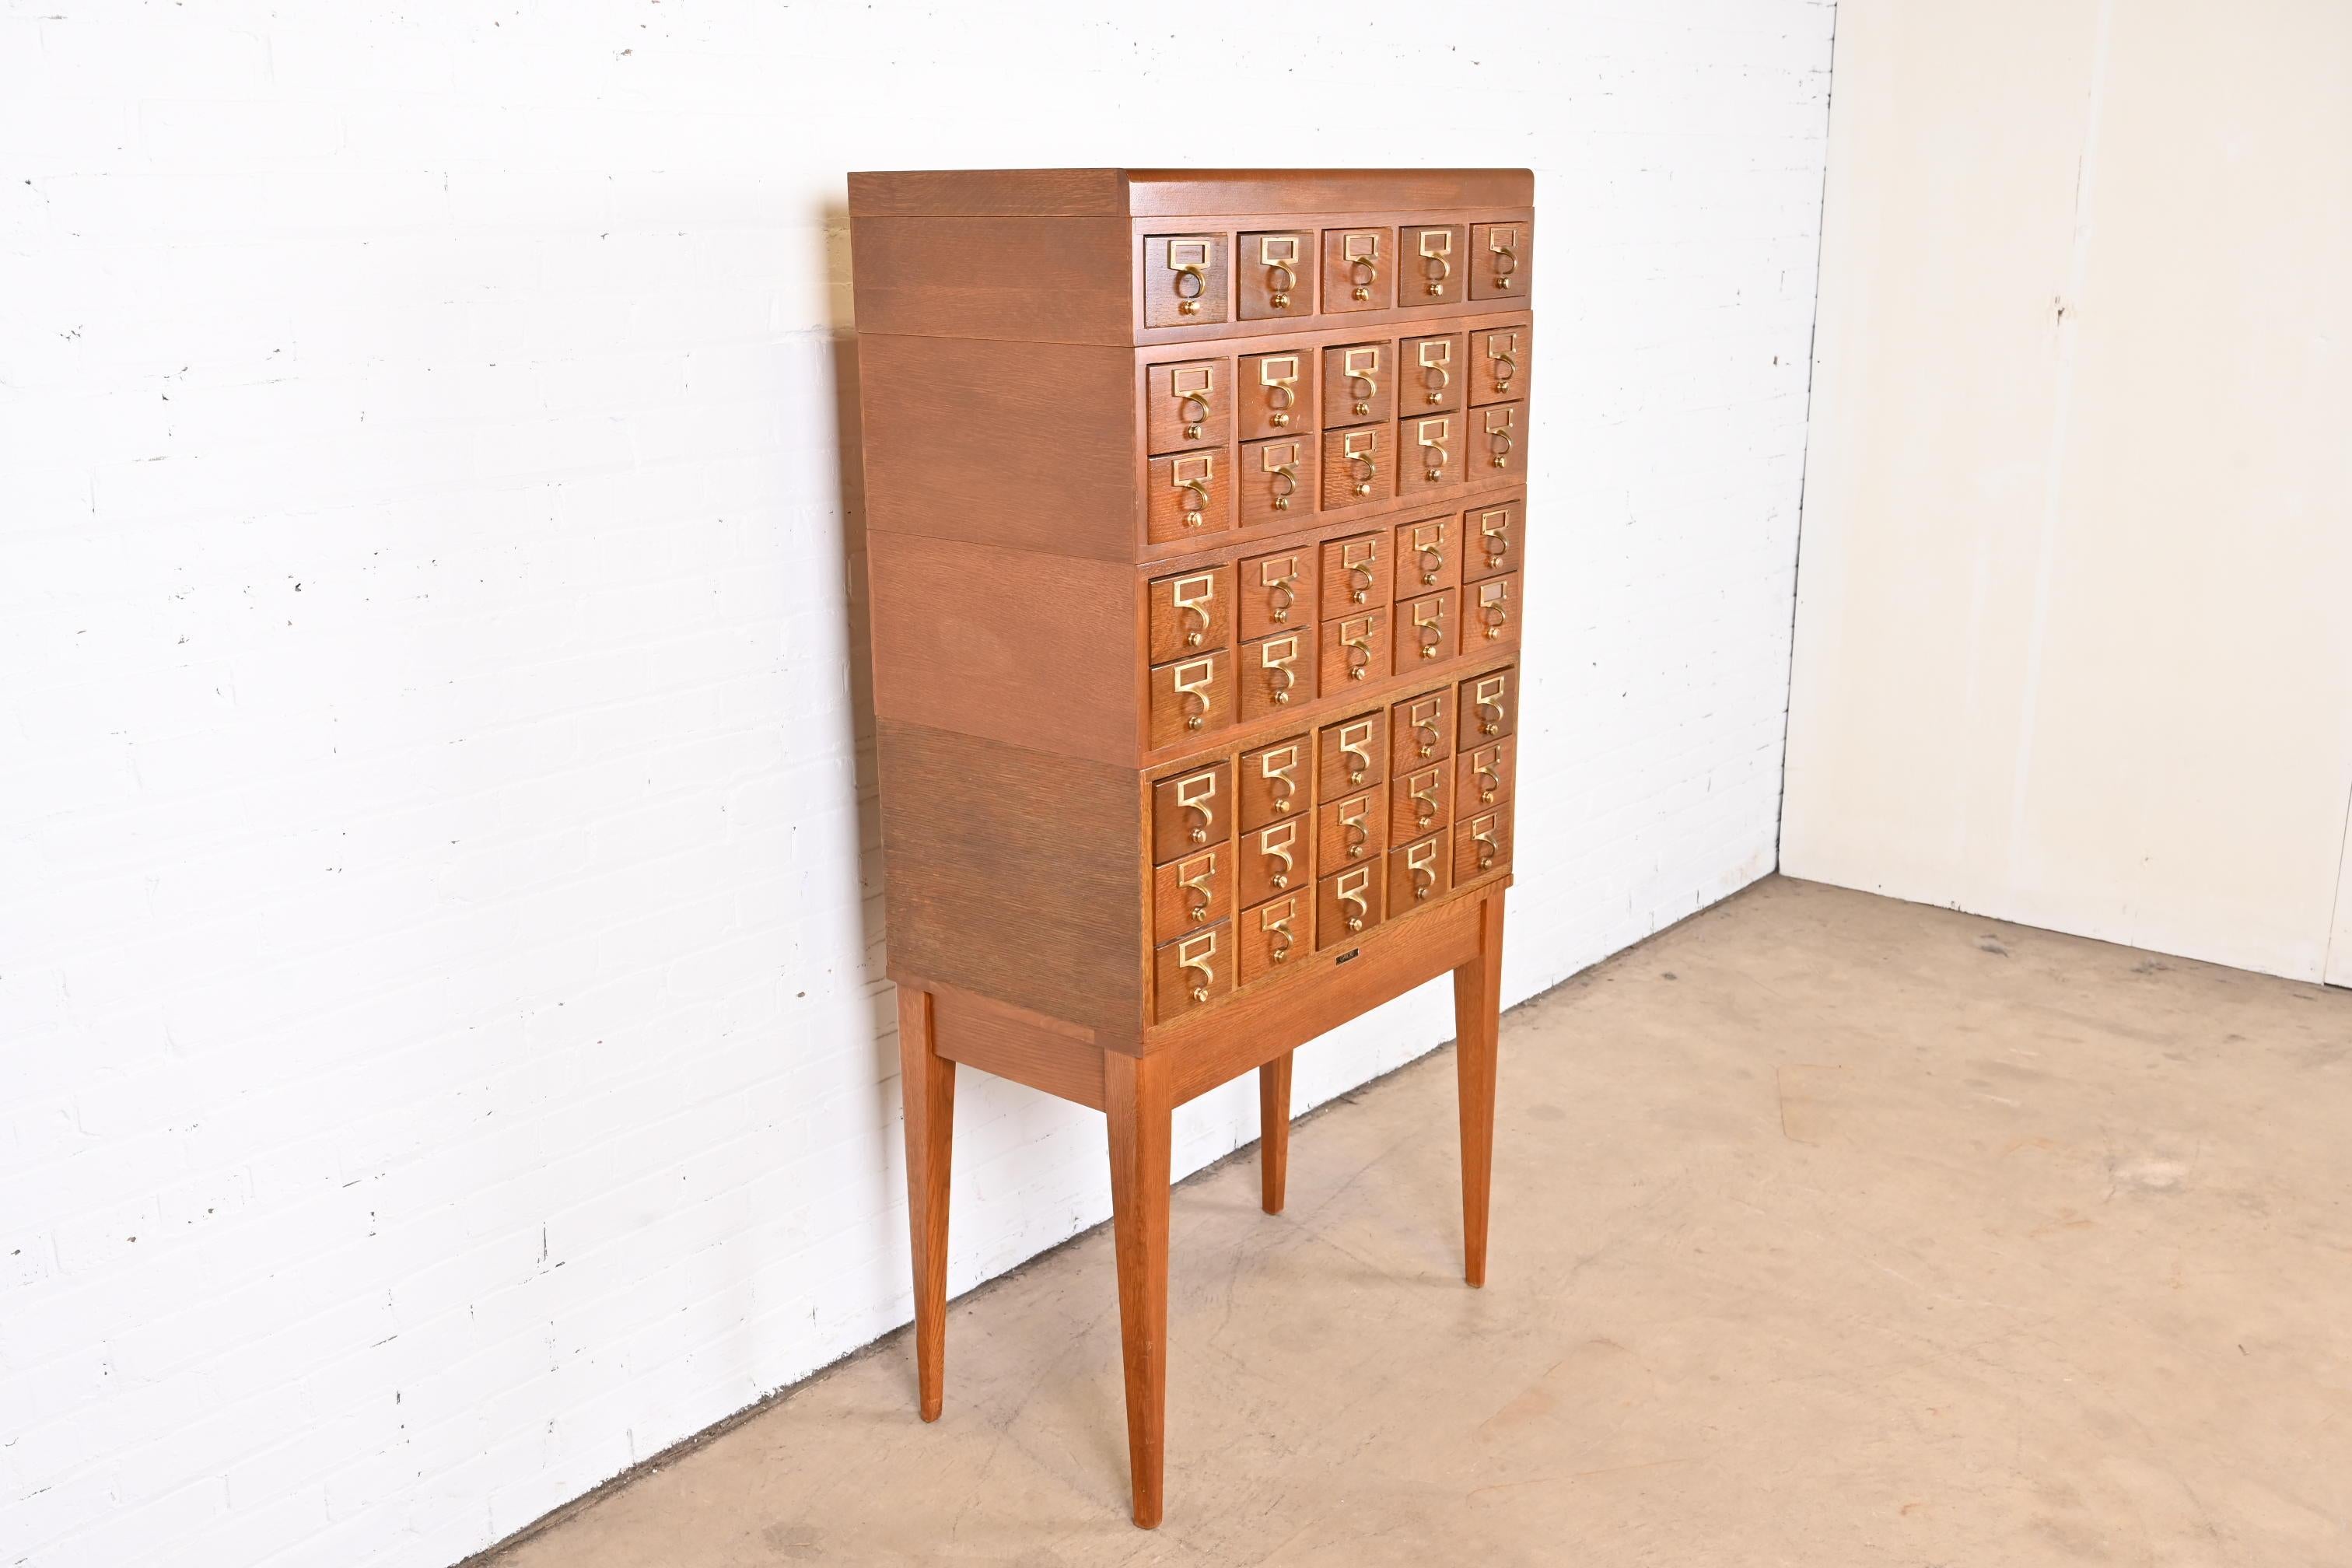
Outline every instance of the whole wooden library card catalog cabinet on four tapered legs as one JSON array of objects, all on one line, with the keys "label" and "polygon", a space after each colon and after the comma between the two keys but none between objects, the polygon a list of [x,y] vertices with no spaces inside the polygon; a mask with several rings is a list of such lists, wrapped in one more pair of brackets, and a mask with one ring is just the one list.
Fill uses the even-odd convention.
[{"label": "whole wooden library card catalog cabinet on four tapered legs", "polygon": [[922,1415],[957,1063],[1105,1112],[1160,1521],[1169,1112],[1435,976],[1486,1269],[1524,169],[851,174]]}]

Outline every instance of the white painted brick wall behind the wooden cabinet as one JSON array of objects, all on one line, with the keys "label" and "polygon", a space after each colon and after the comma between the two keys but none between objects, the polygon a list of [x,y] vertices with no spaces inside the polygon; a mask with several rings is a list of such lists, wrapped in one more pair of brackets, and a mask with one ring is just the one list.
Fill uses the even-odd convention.
[{"label": "white painted brick wall behind the wooden cabinet", "polygon": [[[0,1563],[442,1568],[908,1316],[849,167],[1536,167],[1508,987],[1771,867],[1828,5],[1192,16],[0,0]],[[957,1291],[1108,1215],[957,1138]]]}]

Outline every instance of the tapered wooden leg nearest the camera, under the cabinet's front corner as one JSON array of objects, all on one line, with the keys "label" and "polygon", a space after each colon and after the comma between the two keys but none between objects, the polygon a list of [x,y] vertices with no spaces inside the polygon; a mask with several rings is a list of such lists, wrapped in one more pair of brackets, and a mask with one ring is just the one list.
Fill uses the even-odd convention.
[{"label": "tapered wooden leg nearest the camera, under the cabinet's front corner", "polygon": [[1160,1523],[1169,1394],[1169,1114],[1174,1053],[1103,1053],[1110,1124],[1110,1229],[1120,1258],[1120,1340],[1127,1361],[1127,1474],[1136,1523]]}]

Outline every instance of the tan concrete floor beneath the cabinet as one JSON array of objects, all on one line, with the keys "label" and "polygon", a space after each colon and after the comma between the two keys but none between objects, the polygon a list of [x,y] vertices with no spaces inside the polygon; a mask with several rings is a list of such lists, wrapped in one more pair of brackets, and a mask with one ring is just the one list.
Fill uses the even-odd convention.
[{"label": "tan concrete floor beneath the cabinet", "polygon": [[508,1549],[774,1563],[2352,1563],[2352,994],[1764,882],[1176,1194],[1167,1523],[1108,1227]]}]

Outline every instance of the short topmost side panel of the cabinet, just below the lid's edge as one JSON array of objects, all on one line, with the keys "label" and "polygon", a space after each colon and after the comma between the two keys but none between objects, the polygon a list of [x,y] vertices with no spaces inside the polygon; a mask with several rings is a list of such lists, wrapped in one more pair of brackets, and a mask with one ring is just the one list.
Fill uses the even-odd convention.
[{"label": "short topmost side panel of the cabinet, just below the lid's edge", "polygon": [[1127,343],[1127,219],[849,219],[858,331]]}]

